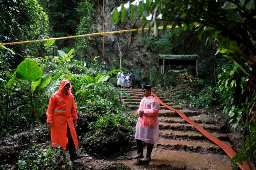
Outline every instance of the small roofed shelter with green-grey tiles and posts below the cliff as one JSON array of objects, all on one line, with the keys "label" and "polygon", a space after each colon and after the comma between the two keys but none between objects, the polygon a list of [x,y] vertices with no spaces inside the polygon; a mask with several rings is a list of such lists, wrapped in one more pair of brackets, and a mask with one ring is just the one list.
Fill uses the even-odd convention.
[{"label": "small roofed shelter with green-grey tiles and posts below the cliff", "polygon": [[[196,77],[198,77],[198,55],[159,55],[159,65],[161,73],[168,71],[177,71],[176,66],[194,66]],[[169,70],[166,68],[169,66]],[[184,67],[182,69],[184,69]],[[180,69],[178,69],[180,71]]]}]

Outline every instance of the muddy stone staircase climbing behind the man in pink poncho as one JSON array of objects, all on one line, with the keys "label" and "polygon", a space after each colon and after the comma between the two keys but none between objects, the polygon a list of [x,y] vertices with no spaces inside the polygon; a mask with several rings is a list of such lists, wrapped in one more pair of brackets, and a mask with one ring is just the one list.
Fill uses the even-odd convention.
[{"label": "muddy stone staircase climbing behind the man in pink poncho", "polygon": [[[130,107],[134,113],[144,97],[141,89],[122,89],[131,95],[131,100],[123,98],[122,103]],[[152,90],[165,104],[180,110],[187,117],[198,123],[219,140],[229,144],[228,136],[221,133],[221,127],[215,125],[216,120],[199,111],[192,111],[172,103],[164,95]],[[230,144],[229,144],[230,145]],[[144,156],[147,146],[144,146]],[[133,157],[136,151],[130,153]],[[196,128],[182,119],[177,112],[161,106],[159,110],[159,143],[154,145],[151,161],[142,164],[139,160],[122,161],[132,170],[231,170],[230,157],[216,144],[208,140]]]}]

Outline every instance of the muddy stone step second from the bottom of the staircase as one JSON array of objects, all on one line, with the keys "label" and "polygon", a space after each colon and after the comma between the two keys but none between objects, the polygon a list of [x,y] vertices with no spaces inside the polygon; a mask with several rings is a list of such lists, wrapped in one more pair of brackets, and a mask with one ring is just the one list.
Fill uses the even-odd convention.
[{"label": "muddy stone step second from the bottom of the staircase", "polygon": [[[211,133],[217,139],[222,141],[228,141],[228,136],[221,133]],[[166,139],[172,140],[208,140],[206,136],[204,136],[200,132],[194,131],[176,131],[176,130],[159,130],[159,135]]]}]

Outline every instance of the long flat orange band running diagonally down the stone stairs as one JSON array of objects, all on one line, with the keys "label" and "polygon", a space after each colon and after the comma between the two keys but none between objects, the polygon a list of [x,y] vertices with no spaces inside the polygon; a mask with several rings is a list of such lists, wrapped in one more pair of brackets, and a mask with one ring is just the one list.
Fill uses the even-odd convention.
[{"label": "long flat orange band running diagonally down the stone stairs", "polygon": [[[164,102],[162,102],[153,92],[151,92],[151,94],[157,99],[157,101],[162,104],[163,106],[167,107],[168,109],[177,112],[184,120],[186,120],[188,123],[190,123],[191,125],[193,125],[193,127],[195,127],[199,132],[201,132],[204,136],[206,136],[209,140],[211,140],[212,142],[214,142],[215,144],[217,144],[218,146],[220,146],[220,148],[222,148],[230,158],[234,157],[237,152],[235,152],[230,146],[228,146],[227,144],[225,144],[224,142],[222,142],[221,140],[215,138],[211,133],[207,132],[204,128],[202,128],[201,126],[199,126],[197,123],[193,122],[191,119],[189,119],[184,113],[182,113],[181,111],[178,111],[176,109],[173,109],[172,107],[168,106],[167,104],[165,104]],[[249,165],[244,161],[243,165],[239,164],[239,167],[242,170],[252,170]]]}]

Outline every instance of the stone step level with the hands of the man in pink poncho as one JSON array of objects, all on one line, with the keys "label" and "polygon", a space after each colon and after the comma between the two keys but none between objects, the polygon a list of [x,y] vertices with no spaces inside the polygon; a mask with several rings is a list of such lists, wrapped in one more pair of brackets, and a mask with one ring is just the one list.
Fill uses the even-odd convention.
[{"label": "stone step level with the hands of the man in pink poncho", "polygon": [[[174,106],[173,106],[173,109],[175,109]],[[183,112],[187,117],[198,116],[198,115],[202,114],[201,112],[198,112],[198,111],[191,111],[191,110],[186,110],[186,109],[183,109],[180,111]],[[177,112],[172,111],[172,110],[167,110],[167,109],[159,110],[159,114],[158,114],[158,117],[175,117],[175,116],[180,117],[180,115]]]}]

